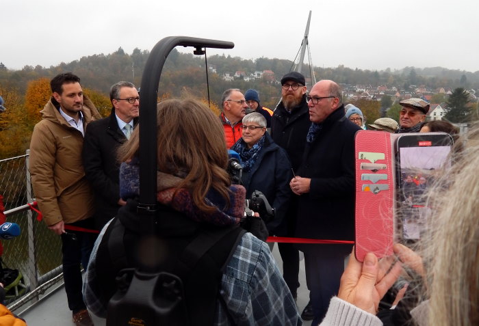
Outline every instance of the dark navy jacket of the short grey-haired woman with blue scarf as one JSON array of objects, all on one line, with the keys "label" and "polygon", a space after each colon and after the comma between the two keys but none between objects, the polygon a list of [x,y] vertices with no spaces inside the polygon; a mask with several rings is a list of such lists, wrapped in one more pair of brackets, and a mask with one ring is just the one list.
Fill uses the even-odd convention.
[{"label": "dark navy jacket of the short grey-haired woman with blue scarf", "polygon": [[274,208],[274,219],[266,224],[270,234],[285,235],[280,227],[292,195],[289,188],[289,181],[293,177],[291,163],[285,150],[274,144],[268,133],[265,133],[265,137],[259,157],[243,185],[246,188],[247,199],[251,198],[253,191],[259,190]]}]

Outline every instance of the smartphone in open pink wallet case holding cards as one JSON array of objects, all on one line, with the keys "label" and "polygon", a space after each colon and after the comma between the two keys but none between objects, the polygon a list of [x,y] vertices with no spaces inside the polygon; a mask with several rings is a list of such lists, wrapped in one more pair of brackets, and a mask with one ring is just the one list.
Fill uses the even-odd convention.
[{"label": "smartphone in open pink wallet case holding cards", "polygon": [[426,193],[452,162],[446,133],[356,135],[356,243],[359,261],[367,252],[393,254],[393,243],[417,241],[433,213]]}]

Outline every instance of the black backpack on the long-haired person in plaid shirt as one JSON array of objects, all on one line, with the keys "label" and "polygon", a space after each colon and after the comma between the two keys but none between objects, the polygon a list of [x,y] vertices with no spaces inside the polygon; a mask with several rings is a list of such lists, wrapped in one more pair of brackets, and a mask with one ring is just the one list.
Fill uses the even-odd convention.
[{"label": "black backpack on the long-haired person in plaid shirt", "polygon": [[127,206],[110,223],[96,257],[99,277],[116,275],[107,326],[213,325],[218,299],[224,304],[219,295],[224,268],[246,231],[237,226],[205,226],[163,207],[159,216],[175,224],[171,230],[182,232],[174,234],[168,230],[170,223],[162,225],[158,230],[165,232],[157,239],[161,247],[171,249],[166,250],[168,258],[154,268],[141,269],[133,254],[136,249],[129,245],[142,241],[131,230],[135,204]]}]

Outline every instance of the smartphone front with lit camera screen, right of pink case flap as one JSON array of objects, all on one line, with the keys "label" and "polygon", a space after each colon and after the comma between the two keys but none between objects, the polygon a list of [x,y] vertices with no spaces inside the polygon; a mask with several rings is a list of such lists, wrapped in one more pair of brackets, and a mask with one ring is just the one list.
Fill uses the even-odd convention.
[{"label": "smartphone front with lit camera screen, right of pink case flap", "polygon": [[452,137],[447,134],[410,134],[398,138],[398,235],[405,241],[421,239],[433,209],[428,189],[452,162]]}]

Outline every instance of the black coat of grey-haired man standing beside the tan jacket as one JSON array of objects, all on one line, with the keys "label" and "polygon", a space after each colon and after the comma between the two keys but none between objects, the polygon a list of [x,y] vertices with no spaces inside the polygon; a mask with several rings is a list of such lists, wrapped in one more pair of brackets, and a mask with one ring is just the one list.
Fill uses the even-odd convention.
[{"label": "black coat of grey-haired man standing beside the tan jacket", "polygon": [[[133,123],[136,123],[133,122]],[[95,197],[95,224],[101,230],[115,217],[120,199],[116,150],[127,140],[116,121],[115,110],[109,117],[88,124],[83,143],[83,167]]]}]

